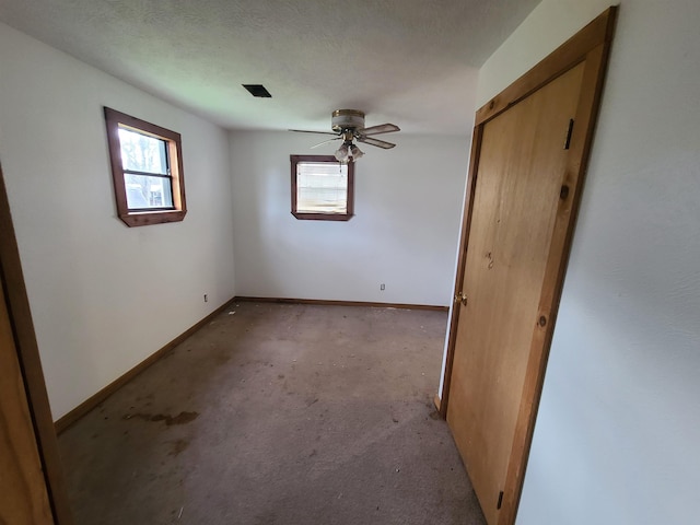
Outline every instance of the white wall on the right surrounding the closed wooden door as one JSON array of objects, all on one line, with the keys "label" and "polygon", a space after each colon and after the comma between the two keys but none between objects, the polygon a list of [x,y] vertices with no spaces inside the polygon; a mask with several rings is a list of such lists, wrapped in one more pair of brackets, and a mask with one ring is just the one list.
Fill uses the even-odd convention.
[{"label": "white wall on the right surrounding the closed wooden door", "polygon": [[[606,7],[544,0],[479,101]],[[697,0],[621,3],[521,525],[698,522],[699,20]]]}]

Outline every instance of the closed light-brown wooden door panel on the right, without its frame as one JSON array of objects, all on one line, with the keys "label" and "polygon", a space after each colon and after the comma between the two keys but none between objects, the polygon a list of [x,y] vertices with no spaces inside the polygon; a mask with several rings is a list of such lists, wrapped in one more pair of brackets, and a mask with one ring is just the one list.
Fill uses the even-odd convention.
[{"label": "closed light-brown wooden door panel on the right, without its frame", "polygon": [[483,129],[447,421],[489,523],[498,523],[582,72]]}]

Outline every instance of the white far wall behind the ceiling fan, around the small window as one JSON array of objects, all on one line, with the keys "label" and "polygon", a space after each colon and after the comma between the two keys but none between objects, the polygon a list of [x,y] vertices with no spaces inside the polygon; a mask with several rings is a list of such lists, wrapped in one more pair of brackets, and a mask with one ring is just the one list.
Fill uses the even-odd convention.
[{"label": "white far wall behind the ceiling fan, around the small window", "polygon": [[300,221],[290,213],[289,155],[332,154],[332,144],[310,150],[322,140],[231,133],[238,295],[447,305],[468,137],[396,133],[393,150],[364,147],[355,217]]}]

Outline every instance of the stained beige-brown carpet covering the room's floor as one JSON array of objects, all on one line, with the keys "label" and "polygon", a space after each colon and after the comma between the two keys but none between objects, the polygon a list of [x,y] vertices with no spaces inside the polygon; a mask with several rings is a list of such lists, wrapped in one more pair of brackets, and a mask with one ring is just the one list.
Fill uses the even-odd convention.
[{"label": "stained beige-brown carpet covering the room's floor", "polygon": [[483,524],[432,405],[446,322],[232,304],[59,436],[77,525]]}]

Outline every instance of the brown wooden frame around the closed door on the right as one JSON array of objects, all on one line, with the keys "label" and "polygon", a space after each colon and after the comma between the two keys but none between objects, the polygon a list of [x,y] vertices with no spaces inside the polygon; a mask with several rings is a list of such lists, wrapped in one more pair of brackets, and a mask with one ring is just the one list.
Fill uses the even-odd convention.
[{"label": "brown wooden frame around the closed door on the right", "polygon": [[[538,310],[538,317],[541,316],[540,318],[545,319],[545,325],[541,326],[541,329],[535,330],[533,341],[530,341],[522,402],[515,427],[513,447],[509,459],[504,499],[502,502],[503,511],[499,517],[499,524],[513,524],[517,513],[533,439],[533,431],[535,428],[535,420],[537,417],[537,409],[545,380],[547,359],[549,357],[549,349],[551,347],[551,339],[553,336],[557,311],[561,299],[564,273],[571,252],[575,218],[581,201],[583,182],[593,143],[593,132],[603,94],[605,71],[607,69],[617,12],[617,7],[608,8],[527,73],[513,82],[500,94],[491,98],[476,113],[454,296],[457,296],[462,291],[464,281],[465,264],[467,259],[466,254],[469,248],[469,231],[471,228],[474,196],[478,179],[479,155],[481,151],[485,125],[514,104],[517,104],[523,98],[542,88],[545,84],[557,79],[579,63],[583,61],[586,62],[574,119],[575,129],[571,140],[564,177],[565,182],[578,179],[578,183],[569,186],[564,183],[568,194],[562,197],[567,202],[565,205],[562,205],[562,207],[569,208],[565,211],[568,212],[567,214],[571,214],[572,219],[564,221],[562,220],[562,214],[558,213],[553,228],[552,242],[545,273],[545,283]],[[450,402],[450,387],[457,339],[459,311],[460,308],[458,307],[458,304],[455,304],[452,308],[452,316],[450,320],[447,354],[445,358],[445,375],[442,396],[439,399],[439,410],[443,418],[446,418],[447,416],[447,404]]]}]

